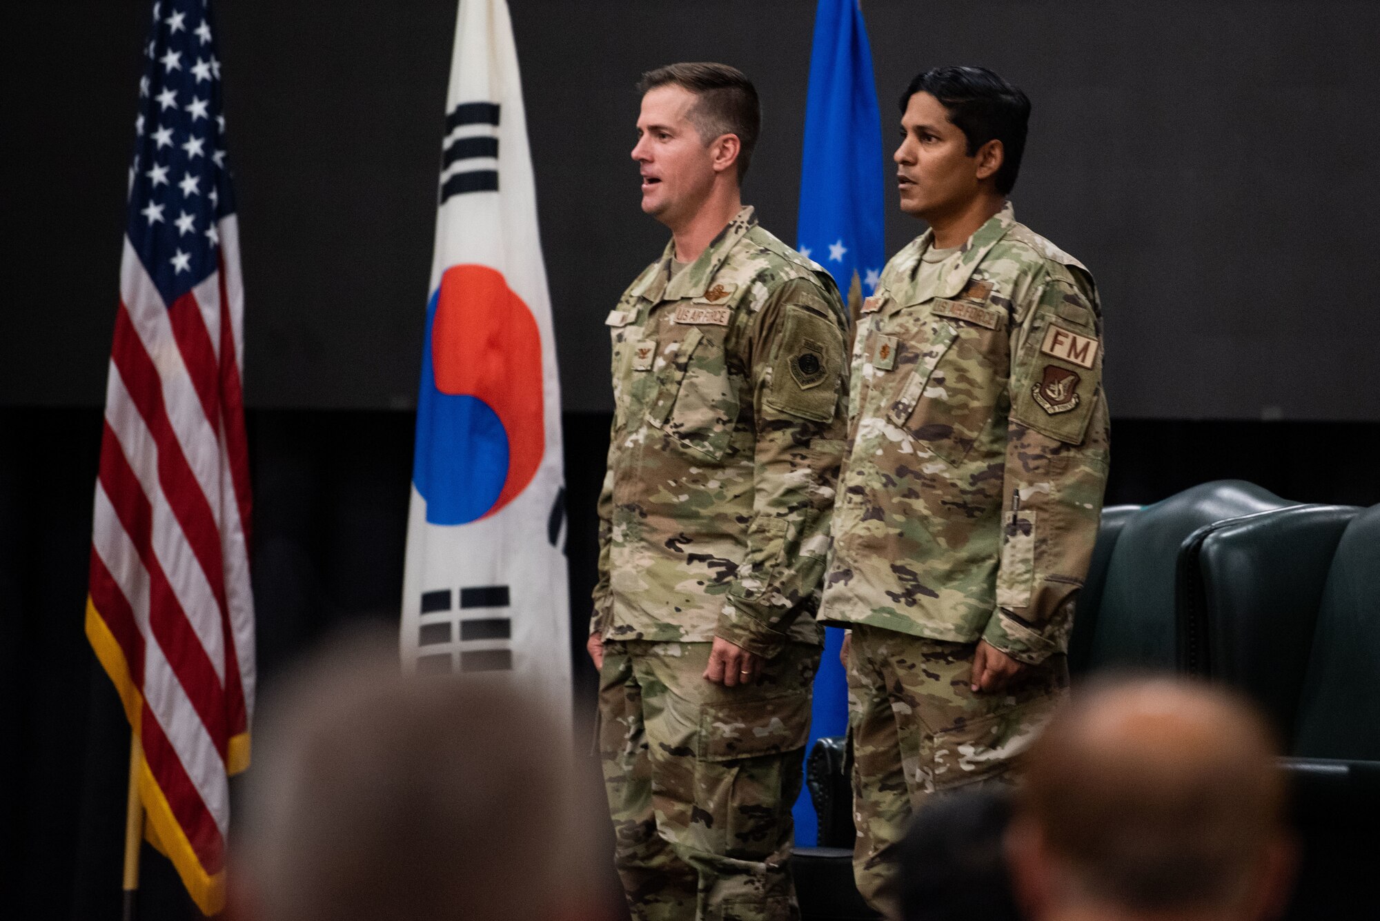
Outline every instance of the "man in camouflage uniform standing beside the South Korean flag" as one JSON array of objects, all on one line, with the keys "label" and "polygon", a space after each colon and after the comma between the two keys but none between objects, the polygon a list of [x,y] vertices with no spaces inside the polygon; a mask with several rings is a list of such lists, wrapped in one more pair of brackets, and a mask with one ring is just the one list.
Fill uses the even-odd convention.
[{"label": "man in camouflage uniform standing beside the South Korean flag", "polygon": [[847,320],[741,205],[752,84],[672,65],[642,88],[642,207],[672,241],[607,318],[589,652],[615,864],[633,918],[785,921]]}]

